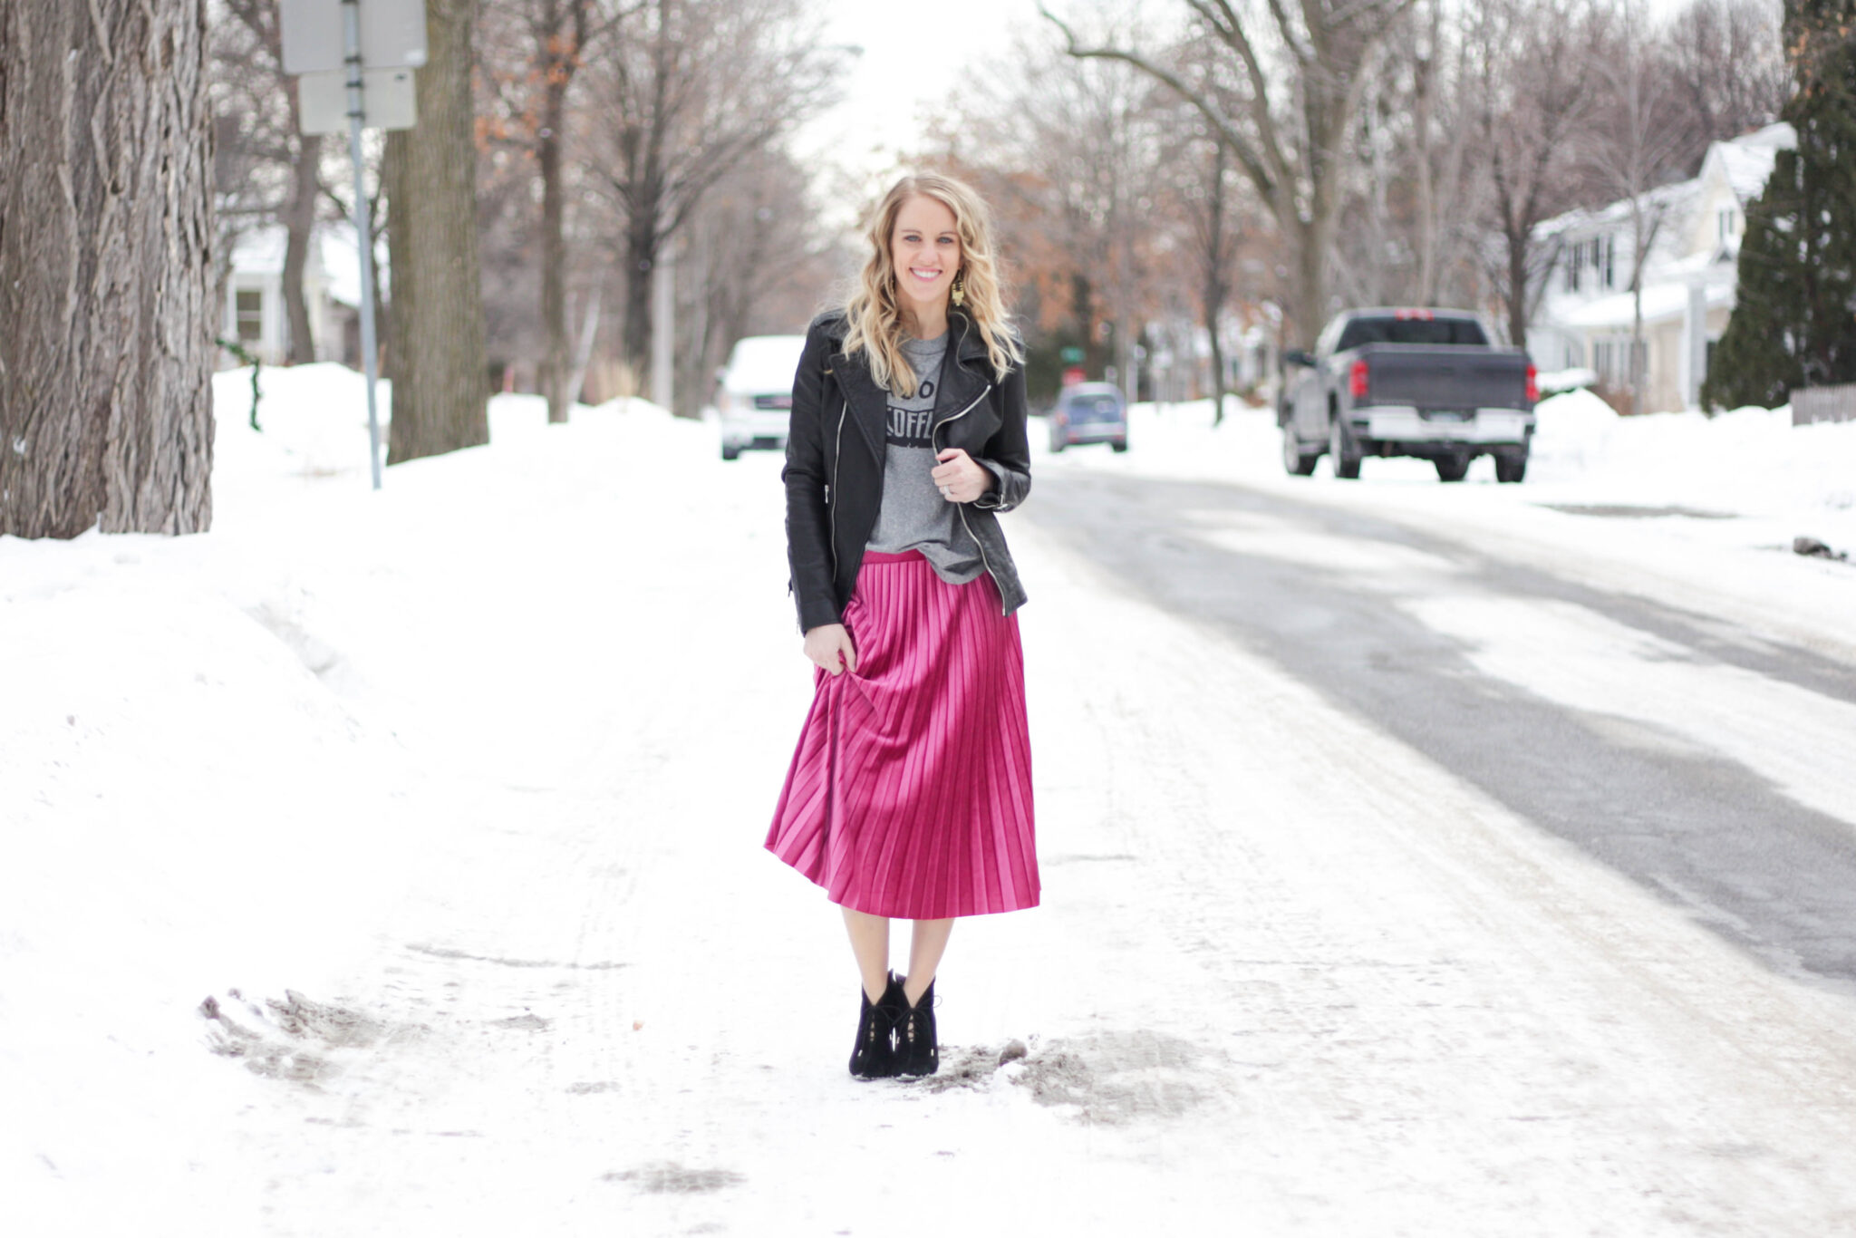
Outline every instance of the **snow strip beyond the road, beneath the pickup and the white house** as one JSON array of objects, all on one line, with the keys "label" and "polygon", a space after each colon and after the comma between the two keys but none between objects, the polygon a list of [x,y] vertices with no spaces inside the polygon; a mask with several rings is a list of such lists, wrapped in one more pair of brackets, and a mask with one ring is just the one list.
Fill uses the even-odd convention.
[{"label": "snow strip beyond the road, beneath the pickup and the white house", "polygon": [[[1502,486],[1489,457],[1446,486],[1427,460],[1368,458],[1359,483],[1323,460],[1288,477],[1268,410],[1210,401],[1136,405],[1136,449],[1052,457],[1056,468],[1242,481],[1372,512],[1483,549],[1513,548],[1553,572],[1732,618],[1856,657],[1856,423],[1793,427],[1787,408],[1620,418],[1589,392],[1542,401],[1527,481]],[[1038,445],[1038,444],[1034,444]],[[1850,562],[1806,561],[1815,538]]]}]

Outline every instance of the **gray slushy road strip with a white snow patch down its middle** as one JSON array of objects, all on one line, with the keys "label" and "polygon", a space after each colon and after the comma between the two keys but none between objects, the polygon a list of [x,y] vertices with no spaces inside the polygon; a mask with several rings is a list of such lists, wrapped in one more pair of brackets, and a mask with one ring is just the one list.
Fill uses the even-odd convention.
[{"label": "gray slushy road strip with a white snow patch down its middle", "polygon": [[[1026,520],[1776,971],[1856,993],[1856,666],[1307,494],[1045,471]],[[1346,780],[1347,746],[1316,742]]]}]

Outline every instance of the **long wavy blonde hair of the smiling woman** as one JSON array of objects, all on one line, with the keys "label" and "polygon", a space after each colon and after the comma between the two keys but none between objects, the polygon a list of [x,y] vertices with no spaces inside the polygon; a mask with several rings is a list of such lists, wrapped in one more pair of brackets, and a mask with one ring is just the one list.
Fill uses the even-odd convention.
[{"label": "long wavy blonde hair of the smiling woman", "polygon": [[[954,212],[954,228],[960,232],[960,278],[965,288],[961,314],[973,319],[986,340],[986,355],[993,364],[993,373],[1000,379],[1025,360],[1017,340],[1012,336],[1012,316],[1006,314],[1006,297],[993,260],[993,219],[986,202],[969,186],[952,176],[935,173],[917,173],[898,180],[870,215],[865,236],[870,241],[870,260],[863,264],[857,288],[844,303],[844,351],[865,355],[870,377],[878,386],[898,395],[911,397],[917,388],[915,369],[902,355],[902,340],[908,330],[902,325],[902,306],[896,303],[896,267],[891,260],[891,241],[896,232],[896,215],[919,197],[934,199]],[[948,306],[954,312],[954,306]]]}]

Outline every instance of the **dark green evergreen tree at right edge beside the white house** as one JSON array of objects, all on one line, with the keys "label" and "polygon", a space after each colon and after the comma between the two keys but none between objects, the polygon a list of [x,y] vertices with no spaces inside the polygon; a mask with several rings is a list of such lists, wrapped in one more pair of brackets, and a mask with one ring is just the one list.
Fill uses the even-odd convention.
[{"label": "dark green evergreen tree at right edge beside the white house", "polygon": [[1785,0],[1798,132],[1746,208],[1739,295],[1702,405],[1776,406],[1856,382],[1856,0]]}]

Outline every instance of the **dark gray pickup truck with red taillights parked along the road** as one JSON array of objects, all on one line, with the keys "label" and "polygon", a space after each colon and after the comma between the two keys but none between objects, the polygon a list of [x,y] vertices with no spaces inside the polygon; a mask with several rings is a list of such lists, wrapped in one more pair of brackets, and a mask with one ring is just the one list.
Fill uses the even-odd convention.
[{"label": "dark gray pickup truck with red taillights parked along the road", "polygon": [[1370,455],[1431,460],[1463,481],[1470,460],[1496,458],[1498,481],[1527,475],[1533,366],[1520,349],[1489,343],[1466,310],[1347,310],[1314,353],[1282,355],[1301,368],[1277,403],[1282,464],[1307,477],[1323,453],[1334,477],[1359,477]]}]

